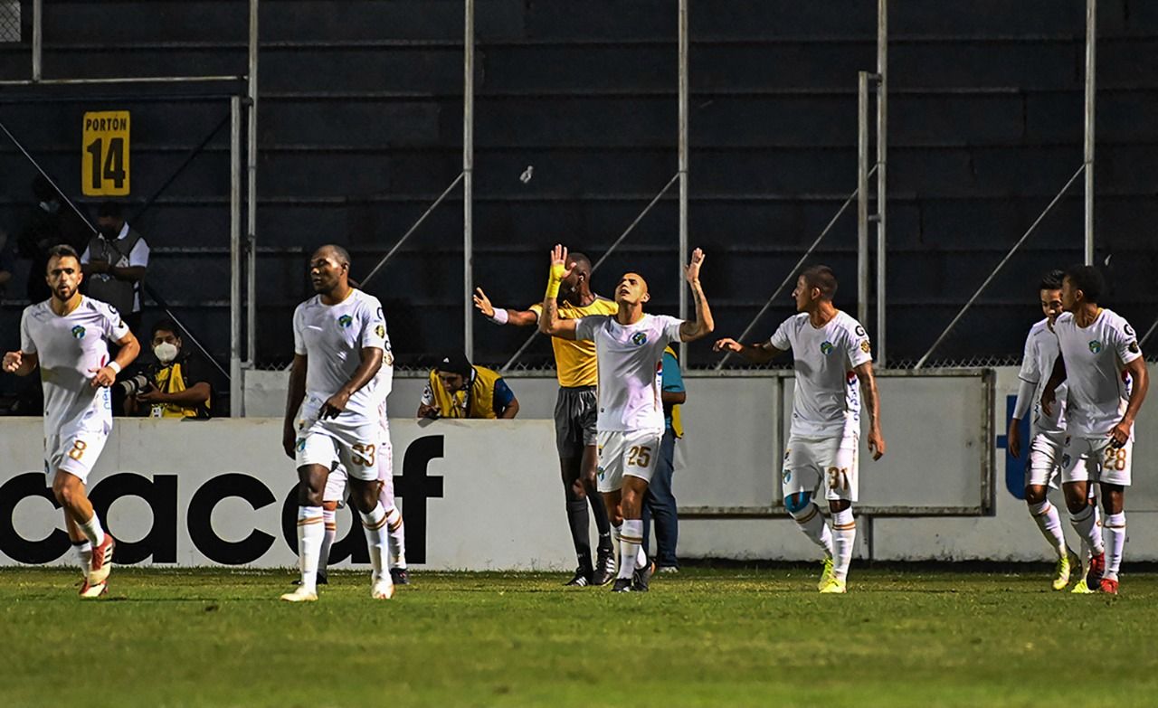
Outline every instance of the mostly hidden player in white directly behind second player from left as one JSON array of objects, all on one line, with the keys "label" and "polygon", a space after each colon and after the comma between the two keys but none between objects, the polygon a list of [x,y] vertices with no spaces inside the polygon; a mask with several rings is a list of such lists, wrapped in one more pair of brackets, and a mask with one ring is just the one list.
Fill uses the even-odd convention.
[{"label": "mostly hidden player in white directly behind second player from left", "polygon": [[[386,351],[390,351],[390,340],[386,340]],[[375,385],[380,386],[382,403],[379,405],[379,426],[381,438],[378,448],[378,479],[382,482],[379,489],[378,500],[386,509],[386,529],[389,545],[390,580],[395,585],[409,585],[410,573],[406,570],[406,531],[402,521],[402,511],[394,499],[394,447],[390,444],[390,423],[387,418],[386,397],[389,396],[394,386],[394,363],[383,360],[382,368],[375,376]],[[325,492],[322,494],[322,519],[325,534],[322,538],[322,550],[317,561],[317,583],[327,584],[325,566],[330,559],[330,547],[337,536],[338,522],[337,510],[345,504],[350,497],[349,474],[342,462],[335,457],[334,469],[325,481]],[[300,581],[299,581],[300,583]]]}]

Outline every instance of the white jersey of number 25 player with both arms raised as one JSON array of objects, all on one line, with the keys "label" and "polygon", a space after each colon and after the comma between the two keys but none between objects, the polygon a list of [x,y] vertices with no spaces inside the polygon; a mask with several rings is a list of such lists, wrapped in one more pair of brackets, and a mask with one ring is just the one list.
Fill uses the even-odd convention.
[{"label": "white jersey of number 25 player with both arms raised", "polygon": [[666,315],[644,315],[631,325],[610,315],[579,319],[576,339],[595,342],[600,432],[664,432],[664,348],[680,340],[681,324]]}]

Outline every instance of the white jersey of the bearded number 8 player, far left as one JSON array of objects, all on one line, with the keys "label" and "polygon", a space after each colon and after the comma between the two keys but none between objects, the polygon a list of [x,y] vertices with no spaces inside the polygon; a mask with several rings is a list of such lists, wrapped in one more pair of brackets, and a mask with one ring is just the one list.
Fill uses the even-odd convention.
[{"label": "white jersey of the bearded number 8 player, far left", "polygon": [[112,426],[109,390],[94,389],[89,369],[109,363],[105,340],[119,341],[129,327],[111,305],[81,296],[72,312],[52,311],[51,300],[24,308],[20,319],[20,348],[36,354],[44,385],[44,433],[91,423],[108,430]]}]

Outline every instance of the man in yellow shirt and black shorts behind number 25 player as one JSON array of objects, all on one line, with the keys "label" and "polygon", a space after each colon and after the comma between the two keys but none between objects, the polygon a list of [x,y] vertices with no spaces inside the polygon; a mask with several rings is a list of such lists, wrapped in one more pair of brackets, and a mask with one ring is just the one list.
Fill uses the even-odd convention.
[{"label": "man in yellow shirt and black shorts behind number 25 player", "polygon": [[[589,315],[615,315],[614,301],[591,290],[591,259],[582,253],[571,253],[571,274],[559,287],[559,317],[579,319]],[[475,307],[498,325],[536,326],[543,311],[542,303],[526,310],[496,308],[482,288],[475,288]],[[555,444],[559,452],[559,469],[566,499],[567,524],[579,561],[567,585],[606,585],[615,578],[615,554],[611,550],[611,524],[599,494],[595,474],[599,453],[595,448],[595,419],[599,413],[595,386],[599,367],[595,342],[551,338],[555,349],[555,370],[559,394],[555,404]],[[598,559],[591,553],[591,531],[587,504],[591,503],[599,531]]]}]

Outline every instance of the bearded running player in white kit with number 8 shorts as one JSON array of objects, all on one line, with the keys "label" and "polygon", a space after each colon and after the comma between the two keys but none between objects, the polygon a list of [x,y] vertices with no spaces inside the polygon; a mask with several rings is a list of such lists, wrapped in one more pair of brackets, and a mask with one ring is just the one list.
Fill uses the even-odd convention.
[{"label": "bearded running player in white kit with number 8 shorts", "polygon": [[[41,367],[44,472],[85,573],[80,596],[94,598],[108,592],[116,544],[85,485],[112,430],[109,386],[137,359],[140,345],[116,309],[80,294],[82,279],[76,251],[67,245],[49,250],[52,296],[24,308],[20,351],[3,355],[3,370],[28,376]],[[120,347],[113,361],[105,340]]]}]

